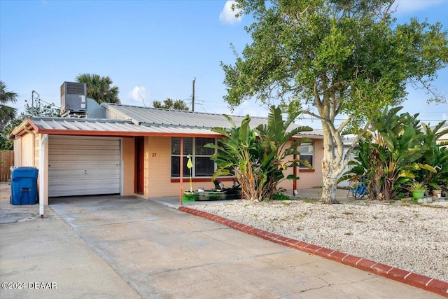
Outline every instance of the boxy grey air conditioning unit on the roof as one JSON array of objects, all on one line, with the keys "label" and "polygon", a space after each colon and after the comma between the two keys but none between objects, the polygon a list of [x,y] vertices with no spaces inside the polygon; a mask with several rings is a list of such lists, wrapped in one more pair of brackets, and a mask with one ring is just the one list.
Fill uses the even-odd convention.
[{"label": "boxy grey air conditioning unit on the roof", "polygon": [[62,111],[83,113],[87,111],[87,85],[85,83],[64,82],[61,85]]}]

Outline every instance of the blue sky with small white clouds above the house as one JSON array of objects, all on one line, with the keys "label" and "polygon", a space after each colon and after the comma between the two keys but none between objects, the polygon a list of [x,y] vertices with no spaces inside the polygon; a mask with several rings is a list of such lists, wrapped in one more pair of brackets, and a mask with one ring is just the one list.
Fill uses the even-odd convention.
[{"label": "blue sky with small white clouds above the house", "polygon": [[[233,43],[241,52],[250,36],[230,1],[18,1],[0,0],[0,80],[18,93],[23,110],[34,90],[45,102],[60,104],[59,88],[78,74],[109,76],[123,104],[151,106],[154,100],[190,103],[195,111],[231,113],[223,101],[220,62],[233,63]],[[395,17],[406,22],[442,22],[448,30],[448,0],[398,1]],[[435,86],[448,97],[448,69]],[[36,96],[36,95],[35,95]],[[409,89],[404,103],[419,119],[448,119],[448,104],[426,104],[426,92]],[[267,107],[246,102],[237,115],[267,116]],[[320,128],[320,121],[304,123]]]}]

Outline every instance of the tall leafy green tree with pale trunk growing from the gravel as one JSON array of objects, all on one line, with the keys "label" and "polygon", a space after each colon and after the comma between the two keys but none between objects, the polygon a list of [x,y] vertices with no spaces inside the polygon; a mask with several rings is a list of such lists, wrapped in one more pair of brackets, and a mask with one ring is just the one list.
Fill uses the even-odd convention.
[{"label": "tall leafy green tree with pale trunk growing from the gravel", "polygon": [[[436,95],[431,83],[448,62],[447,33],[440,23],[415,18],[395,24],[393,0],[237,0],[235,6],[255,22],[246,27],[253,41],[242,56],[222,64],[225,101],[279,99],[320,119],[321,202],[336,202],[337,177],[349,157],[342,132],[404,101],[409,82]],[[346,121],[337,125],[341,114]]]}]

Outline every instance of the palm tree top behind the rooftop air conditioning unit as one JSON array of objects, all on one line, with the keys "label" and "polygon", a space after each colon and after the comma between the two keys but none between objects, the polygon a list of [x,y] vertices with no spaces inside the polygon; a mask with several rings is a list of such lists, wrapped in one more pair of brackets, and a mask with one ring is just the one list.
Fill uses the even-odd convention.
[{"label": "palm tree top behind the rooftop air conditioning unit", "polygon": [[87,85],[87,97],[91,97],[97,101],[98,104],[120,104],[120,99],[118,99],[118,86],[111,87],[113,81],[109,76],[103,77],[97,74],[80,74],[76,77],[76,81]]}]

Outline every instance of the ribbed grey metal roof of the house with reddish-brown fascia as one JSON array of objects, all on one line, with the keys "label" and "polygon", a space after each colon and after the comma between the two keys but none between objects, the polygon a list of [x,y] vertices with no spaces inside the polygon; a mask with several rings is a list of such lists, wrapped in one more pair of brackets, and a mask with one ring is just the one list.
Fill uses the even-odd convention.
[{"label": "ribbed grey metal roof of the house with reddish-brown fascia", "polygon": [[[121,119],[50,118],[32,117],[13,130],[13,136],[25,134],[31,128],[42,134],[91,136],[164,136],[164,137],[217,137],[212,127],[231,127],[222,114],[199,113],[167,109],[102,104]],[[238,126],[243,116],[230,116]],[[267,123],[267,118],[251,118],[251,127]],[[292,126],[298,127],[293,124]],[[292,129],[292,127],[291,127]],[[322,139],[320,131],[302,132],[297,137]]]}]

